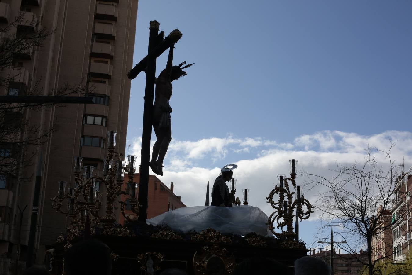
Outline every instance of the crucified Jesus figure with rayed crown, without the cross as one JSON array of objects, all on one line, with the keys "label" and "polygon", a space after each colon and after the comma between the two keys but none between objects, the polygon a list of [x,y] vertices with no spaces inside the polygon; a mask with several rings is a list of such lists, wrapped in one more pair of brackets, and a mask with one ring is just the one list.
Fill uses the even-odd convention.
[{"label": "crucified Jesus figure with rayed crown, without the cross", "polygon": [[[174,43],[173,43],[174,45]],[[172,81],[178,80],[181,76],[187,75],[182,69],[192,66],[194,63],[185,65],[186,61],[180,63],[179,66],[173,66],[173,45],[169,49],[169,58],[167,59],[166,68],[156,78],[155,103],[153,104],[153,120],[152,125],[155,129],[156,142],[153,145],[152,160],[150,160],[150,168],[160,176],[163,176],[163,160],[166,155],[169,143],[172,140],[172,129],[170,113],[172,108],[169,105],[169,100],[172,96]]]}]

